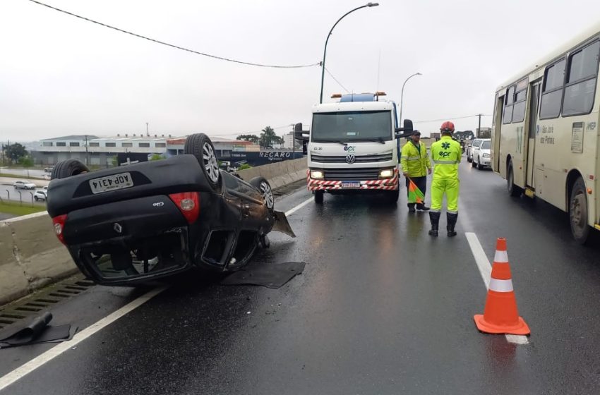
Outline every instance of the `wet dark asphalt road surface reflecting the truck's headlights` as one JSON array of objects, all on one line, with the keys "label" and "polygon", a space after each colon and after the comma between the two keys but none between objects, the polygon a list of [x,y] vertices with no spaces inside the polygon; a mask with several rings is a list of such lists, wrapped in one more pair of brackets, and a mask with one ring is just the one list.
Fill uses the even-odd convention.
[{"label": "wet dark asphalt road surface reflecting the truck's headlights", "polygon": [[[409,214],[405,196],[390,207],[326,195],[289,217],[298,238],[273,233],[256,257],[307,262],[282,288],[174,279],[0,395],[598,394],[598,243],[582,248],[566,214],[461,166],[456,238],[432,240],[428,216]],[[277,207],[309,197],[301,188]],[[477,332],[486,288],[464,232],[490,261],[496,238],[508,238],[529,344]],[[53,324],[87,327],[145,291],[92,287],[56,306]],[[51,347],[1,350],[0,377]]]}]

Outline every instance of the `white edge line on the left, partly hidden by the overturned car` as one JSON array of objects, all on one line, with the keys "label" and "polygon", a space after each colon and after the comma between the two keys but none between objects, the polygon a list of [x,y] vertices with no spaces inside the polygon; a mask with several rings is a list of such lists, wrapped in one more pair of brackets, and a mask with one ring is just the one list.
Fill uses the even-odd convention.
[{"label": "white edge line on the left, partly hidden by the overturned car", "polygon": [[[286,217],[288,215],[291,215],[294,212],[298,211],[302,207],[308,205],[308,203],[310,203],[312,200],[313,200],[313,197],[306,200],[305,202],[301,202],[296,207],[289,209],[285,213]],[[148,302],[148,300],[150,300],[150,299],[154,298],[155,296],[157,296],[158,294],[162,293],[167,288],[169,288],[169,286],[160,286],[159,288],[155,288],[152,291],[145,293],[144,295],[140,296],[136,300],[132,300],[131,302],[127,303],[119,310],[116,310],[115,312],[112,312],[111,314],[107,315],[107,317],[102,318],[102,320],[83,329],[83,331],[81,331],[78,334],[76,334],[75,336],[73,336],[73,339],[71,339],[70,341],[64,341],[63,343],[60,343],[60,344],[50,348],[48,351],[46,351],[43,354],[40,354],[40,356],[33,358],[28,363],[25,363],[24,365],[17,367],[12,372],[4,375],[3,377],[0,377],[0,391],[5,389],[9,385],[13,384],[14,382],[16,382],[18,379],[24,377],[25,375],[28,375],[30,372],[33,372],[38,367],[44,365],[45,363],[50,362],[57,356],[60,356],[62,353],[64,353],[68,349],[73,348],[80,342],[84,341],[85,339],[88,339],[88,337],[92,336],[96,332],[99,332],[101,329],[103,329],[104,327],[107,327],[109,324],[112,324],[116,320],[119,320],[119,318],[123,317],[128,312],[131,312],[131,311],[135,310],[136,308],[140,307],[140,305],[143,305],[144,303]]]}]

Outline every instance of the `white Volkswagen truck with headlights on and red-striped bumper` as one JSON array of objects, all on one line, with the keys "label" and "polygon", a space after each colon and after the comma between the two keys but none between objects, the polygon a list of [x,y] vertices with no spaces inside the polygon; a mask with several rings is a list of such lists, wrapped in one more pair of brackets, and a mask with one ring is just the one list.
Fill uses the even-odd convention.
[{"label": "white Volkswagen truck with headlights on and red-striped bumper", "polygon": [[412,133],[412,121],[405,120],[399,128],[396,104],[379,99],[383,95],[334,95],[340,102],[313,106],[308,190],[317,203],[323,202],[325,192],[356,190],[384,191],[391,202],[397,202],[398,139]]}]

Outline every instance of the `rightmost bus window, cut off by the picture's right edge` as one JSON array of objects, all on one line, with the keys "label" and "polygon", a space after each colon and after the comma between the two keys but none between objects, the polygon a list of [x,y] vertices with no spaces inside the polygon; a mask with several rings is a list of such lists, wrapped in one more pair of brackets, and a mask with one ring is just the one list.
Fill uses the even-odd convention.
[{"label": "rightmost bus window, cut off by the picture's right edge", "polygon": [[594,105],[600,42],[596,41],[569,56],[563,116],[589,114]]}]

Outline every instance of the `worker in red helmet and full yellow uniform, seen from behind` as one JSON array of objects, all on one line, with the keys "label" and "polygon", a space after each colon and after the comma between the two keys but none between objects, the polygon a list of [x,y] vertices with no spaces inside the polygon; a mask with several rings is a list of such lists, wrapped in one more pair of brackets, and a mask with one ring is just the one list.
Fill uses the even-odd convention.
[{"label": "worker in red helmet and full yellow uniform, seen from behind", "polygon": [[431,145],[431,159],[433,160],[433,179],[431,181],[431,236],[438,236],[440,215],[444,194],[448,212],[446,230],[448,237],[456,236],[455,226],[458,219],[458,164],[462,151],[460,143],[452,140],[454,123],[446,121],[440,128],[442,138]]}]

